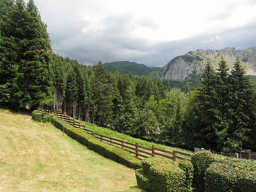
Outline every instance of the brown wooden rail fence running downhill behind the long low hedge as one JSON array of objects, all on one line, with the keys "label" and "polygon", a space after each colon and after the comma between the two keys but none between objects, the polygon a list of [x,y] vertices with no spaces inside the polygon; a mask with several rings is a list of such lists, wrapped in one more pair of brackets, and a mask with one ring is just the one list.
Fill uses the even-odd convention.
[{"label": "brown wooden rail fence running downhill behind the long low hedge", "polygon": [[134,154],[135,158],[138,158],[142,160],[143,158],[148,157],[154,157],[155,155],[160,155],[165,158],[173,159],[173,161],[176,161],[176,159],[181,160],[189,160],[192,156],[189,153],[184,153],[178,150],[173,150],[173,152],[170,152],[168,150],[163,150],[155,147],[152,145],[152,147],[144,147],[141,145],[138,145],[138,142],[130,143],[124,141],[124,139],[116,139],[114,137],[108,137],[102,134],[94,133],[94,131],[89,130],[86,128],[86,126],[81,126],[80,122],[77,122],[75,118],[70,118],[68,115],[66,115],[66,112],[63,114],[59,111],[54,110],[53,108],[40,108],[42,112],[47,112],[48,114],[53,114],[59,117],[61,120],[64,120],[68,122],[70,125],[76,127],[76,128],[82,128],[83,130],[87,131],[88,134],[92,134],[94,137],[99,139],[101,142],[107,142],[110,145],[114,145],[116,147],[121,147],[124,150],[127,150],[129,153]]}]

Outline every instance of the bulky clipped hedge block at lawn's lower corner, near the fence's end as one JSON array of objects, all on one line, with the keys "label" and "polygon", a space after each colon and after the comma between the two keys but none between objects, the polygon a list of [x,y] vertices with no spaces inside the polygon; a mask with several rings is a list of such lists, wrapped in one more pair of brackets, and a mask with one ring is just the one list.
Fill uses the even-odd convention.
[{"label": "bulky clipped hedge block at lawn's lower corner, near the fence's end", "polygon": [[[159,156],[142,161],[143,169],[136,171],[138,186],[146,191],[192,191],[192,164]],[[182,169],[181,169],[182,167]],[[147,183],[147,184],[146,184]]]}]

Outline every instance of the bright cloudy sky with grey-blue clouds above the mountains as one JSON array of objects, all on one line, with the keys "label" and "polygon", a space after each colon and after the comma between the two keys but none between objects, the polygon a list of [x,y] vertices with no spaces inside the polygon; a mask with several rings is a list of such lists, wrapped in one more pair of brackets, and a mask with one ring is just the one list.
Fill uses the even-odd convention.
[{"label": "bright cloudy sky with grey-blue clouds above the mountains", "polygon": [[34,0],[53,51],[164,66],[189,50],[256,45],[256,0]]}]

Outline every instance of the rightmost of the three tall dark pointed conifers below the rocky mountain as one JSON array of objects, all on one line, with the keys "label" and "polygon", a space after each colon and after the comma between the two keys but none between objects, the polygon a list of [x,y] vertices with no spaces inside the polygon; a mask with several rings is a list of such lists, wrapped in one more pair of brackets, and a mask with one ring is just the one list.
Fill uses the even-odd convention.
[{"label": "rightmost of the three tall dark pointed conifers below the rocky mountain", "polygon": [[248,141],[249,131],[252,128],[255,116],[252,100],[252,85],[249,77],[245,75],[244,68],[236,58],[233,70],[230,74],[230,104],[228,105],[228,118],[230,119],[228,129],[222,131],[225,134],[220,137],[223,151],[240,152],[243,143]]}]

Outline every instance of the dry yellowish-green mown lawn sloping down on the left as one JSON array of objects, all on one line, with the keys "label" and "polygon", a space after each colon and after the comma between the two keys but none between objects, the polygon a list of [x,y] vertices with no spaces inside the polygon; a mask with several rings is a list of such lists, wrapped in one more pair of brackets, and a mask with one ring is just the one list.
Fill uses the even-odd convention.
[{"label": "dry yellowish-green mown lawn sloping down on the left", "polygon": [[50,123],[0,110],[0,191],[141,191],[135,172]]}]

